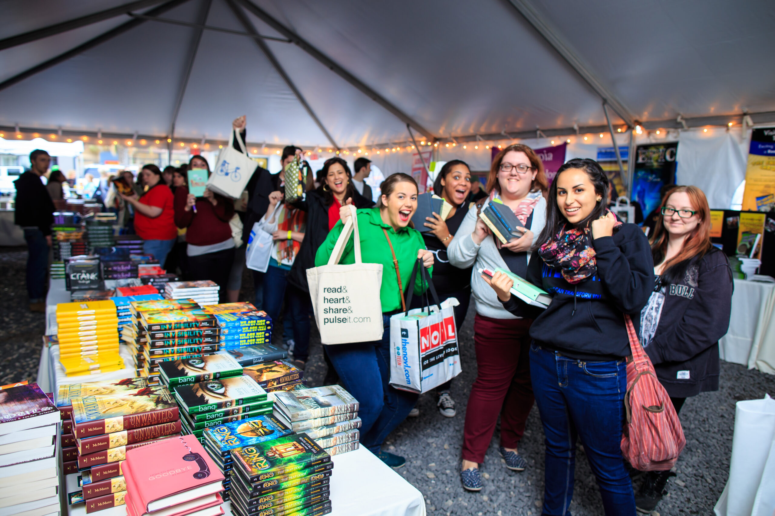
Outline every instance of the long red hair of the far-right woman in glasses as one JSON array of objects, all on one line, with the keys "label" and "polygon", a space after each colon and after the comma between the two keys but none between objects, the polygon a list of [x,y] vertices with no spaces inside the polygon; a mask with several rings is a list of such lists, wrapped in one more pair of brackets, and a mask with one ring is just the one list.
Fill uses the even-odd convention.
[{"label": "long red hair of the far-right woman in glasses", "polygon": [[654,264],[662,263],[667,255],[667,241],[670,240],[670,234],[665,229],[665,216],[662,214],[662,208],[665,207],[670,196],[677,192],[685,192],[689,196],[691,206],[697,210],[697,214],[700,216],[700,223],[686,237],[684,247],[681,248],[680,252],[665,263],[660,278],[663,285],[679,282],[684,278],[689,264],[695,259],[702,258],[713,248],[713,244],[711,244],[711,209],[708,207],[707,197],[697,186],[673,185],[663,196],[658,212],[660,217],[656,220],[654,227],[654,236],[651,241],[651,256],[654,259]]}]

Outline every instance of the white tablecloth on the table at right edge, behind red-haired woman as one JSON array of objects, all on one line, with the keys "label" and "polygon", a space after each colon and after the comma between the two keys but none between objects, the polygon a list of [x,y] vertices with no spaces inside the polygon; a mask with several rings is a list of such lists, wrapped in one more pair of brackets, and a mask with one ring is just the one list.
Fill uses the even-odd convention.
[{"label": "white tablecloth on the table at right edge, behind red-haired woman", "polygon": [[735,279],[729,331],[719,340],[722,360],[775,374],[775,283]]}]

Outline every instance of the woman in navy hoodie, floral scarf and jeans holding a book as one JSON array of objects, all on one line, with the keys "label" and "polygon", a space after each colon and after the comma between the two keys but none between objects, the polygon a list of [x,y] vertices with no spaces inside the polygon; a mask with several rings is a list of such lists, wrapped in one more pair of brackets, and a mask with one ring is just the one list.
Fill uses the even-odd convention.
[{"label": "woman in navy hoodie, floral scarf and jeans holding a book", "polygon": [[654,265],[646,235],[617,220],[607,200],[608,178],[598,162],[571,159],[560,167],[526,278],[553,297],[546,309],[512,296],[508,276],[484,278],[505,309],[535,314],[530,375],[546,436],[543,514],[570,515],[577,438],[605,514],[636,514],[620,444],[632,354],[624,314],[637,330]]}]

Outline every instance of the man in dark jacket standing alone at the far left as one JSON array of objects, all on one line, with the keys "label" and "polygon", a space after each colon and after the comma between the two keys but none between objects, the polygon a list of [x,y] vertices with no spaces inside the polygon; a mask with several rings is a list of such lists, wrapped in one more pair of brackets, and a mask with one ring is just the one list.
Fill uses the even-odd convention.
[{"label": "man in dark jacket standing alone at the far left", "polygon": [[53,201],[40,180],[50,165],[48,152],[36,149],[29,154],[31,168],[14,181],[16,201],[14,224],[24,230],[27,241],[27,295],[29,309],[46,311],[46,269],[51,246]]}]

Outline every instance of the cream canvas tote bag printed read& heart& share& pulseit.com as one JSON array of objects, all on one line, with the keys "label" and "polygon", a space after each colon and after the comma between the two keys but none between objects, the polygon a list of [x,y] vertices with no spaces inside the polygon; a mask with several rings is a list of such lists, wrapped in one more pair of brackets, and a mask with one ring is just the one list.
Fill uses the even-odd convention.
[{"label": "cream canvas tote bag printed read& heart& share& pulseit.com", "polygon": [[[381,340],[384,330],[380,302],[382,264],[361,261],[358,219],[352,205],[350,213],[328,264],[307,269],[309,296],[324,344]],[[355,263],[339,265],[353,233]]]}]

